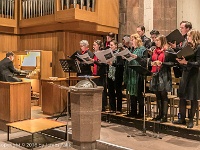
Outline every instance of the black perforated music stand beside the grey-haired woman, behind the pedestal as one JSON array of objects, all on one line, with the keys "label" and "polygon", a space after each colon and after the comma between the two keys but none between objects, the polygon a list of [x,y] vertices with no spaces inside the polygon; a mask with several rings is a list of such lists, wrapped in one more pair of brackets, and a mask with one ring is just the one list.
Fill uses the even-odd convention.
[{"label": "black perforated music stand beside the grey-haired woman, behind the pedestal", "polygon": [[[69,80],[68,80],[68,85],[70,86],[70,73],[71,72],[75,72],[75,73],[81,73],[81,70],[80,70],[80,67],[79,67],[79,64],[77,61],[71,59],[71,58],[68,58],[68,59],[60,59],[60,64],[61,64],[61,67],[63,69],[64,72],[68,72],[68,75],[69,75]],[[61,114],[56,118],[56,120],[58,120],[58,118],[60,116],[63,115],[64,112],[67,111],[67,116],[69,115],[69,111],[70,109],[68,109],[68,106],[69,106],[69,103],[70,103],[70,92],[68,92],[68,98],[67,98],[67,106],[64,108],[64,110],[61,112]]]}]

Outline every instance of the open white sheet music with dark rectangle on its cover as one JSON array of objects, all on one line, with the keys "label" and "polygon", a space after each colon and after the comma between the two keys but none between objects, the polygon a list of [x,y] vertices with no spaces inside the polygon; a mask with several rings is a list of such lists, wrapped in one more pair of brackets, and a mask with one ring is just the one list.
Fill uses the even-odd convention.
[{"label": "open white sheet music with dark rectangle on its cover", "polygon": [[96,57],[100,60],[101,63],[112,62],[115,60],[112,49],[102,50],[95,52]]}]

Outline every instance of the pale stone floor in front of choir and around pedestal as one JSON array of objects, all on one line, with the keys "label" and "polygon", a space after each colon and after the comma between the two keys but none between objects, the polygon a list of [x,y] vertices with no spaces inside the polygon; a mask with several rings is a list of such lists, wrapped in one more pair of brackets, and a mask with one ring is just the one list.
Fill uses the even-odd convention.
[{"label": "pale stone floor in front of choir and around pedestal", "polygon": [[[42,114],[40,107],[32,107],[32,118],[41,118],[41,117],[48,117],[48,116]],[[116,122],[117,119],[118,118],[113,118],[113,122]],[[60,117],[59,121],[66,121],[66,117]],[[163,133],[159,134],[159,137],[162,138],[160,139],[160,138],[155,138],[157,134],[152,134],[149,131],[147,131],[148,136],[143,136],[141,130],[135,128],[134,125],[130,127],[122,124],[112,123],[112,120],[111,123],[102,121],[100,141],[127,147],[133,150],[179,150],[179,149],[200,150],[200,142],[197,140],[186,139]],[[132,122],[130,121],[129,124],[132,124]],[[10,138],[17,139],[20,137],[19,140],[23,140],[28,135],[29,135],[28,133],[19,131],[11,133]],[[155,137],[152,137],[152,135],[155,135]],[[195,136],[198,136],[198,138],[196,139],[199,139],[199,135]],[[73,149],[65,147],[66,142],[61,140],[51,141],[52,139],[48,138],[46,138],[45,140],[49,140],[52,143],[50,143],[49,145],[44,145],[44,147],[38,147],[35,149],[39,150]],[[25,148],[13,145],[11,142],[8,142],[7,133],[0,131],[0,150],[4,149],[23,150]],[[110,150],[113,150],[113,148],[110,148]]]}]

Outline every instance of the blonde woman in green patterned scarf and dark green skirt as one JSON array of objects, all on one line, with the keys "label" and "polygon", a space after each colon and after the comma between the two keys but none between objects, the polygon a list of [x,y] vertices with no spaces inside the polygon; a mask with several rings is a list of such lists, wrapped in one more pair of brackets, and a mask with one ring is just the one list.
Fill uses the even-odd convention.
[{"label": "blonde woman in green patterned scarf and dark green skirt", "polygon": [[[126,61],[124,69],[124,84],[126,90],[130,95],[131,111],[128,116],[142,118],[144,113],[144,101],[143,101],[143,76],[138,74],[135,70],[129,68],[130,65],[142,65],[146,67],[146,48],[143,46],[142,40],[139,34],[131,35],[132,42],[132,55],[134,58],[132,61]],[[139,112],[137,113],[137,102],[139,103]]]}]

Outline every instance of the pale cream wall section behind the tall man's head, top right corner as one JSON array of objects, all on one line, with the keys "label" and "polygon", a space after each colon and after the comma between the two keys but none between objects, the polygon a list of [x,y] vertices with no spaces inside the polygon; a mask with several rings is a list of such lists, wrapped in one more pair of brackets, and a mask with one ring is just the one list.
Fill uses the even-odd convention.
[{"label": "pale cream wall section behind the tall man's head, top right corner", "polygon": [[181,21],[192,23],[194,29],[200,31],[200,0],[177,0],[177,28]]}]

